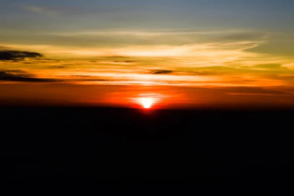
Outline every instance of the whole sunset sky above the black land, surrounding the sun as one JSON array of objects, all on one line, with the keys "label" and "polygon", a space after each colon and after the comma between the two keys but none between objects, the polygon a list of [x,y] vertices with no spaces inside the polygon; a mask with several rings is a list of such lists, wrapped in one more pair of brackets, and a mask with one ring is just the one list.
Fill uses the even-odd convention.
[{"label": "whole sunset sky above the black land, surrounding the sun", "polygon": [[293,0],[1,0],[0,104],[294,106]]}]

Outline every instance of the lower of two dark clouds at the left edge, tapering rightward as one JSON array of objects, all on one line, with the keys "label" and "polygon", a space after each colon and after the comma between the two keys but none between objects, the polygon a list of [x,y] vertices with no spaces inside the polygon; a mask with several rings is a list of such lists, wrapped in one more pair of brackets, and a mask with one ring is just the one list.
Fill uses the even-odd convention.
[{"label": "lower of two dark clouds at the left edge, tapering rightward", "polygon": [[37,78],[34,74],[27,73],[23,70],[1,70],[0,81],[15,82],[56,82],[58,79]]}]

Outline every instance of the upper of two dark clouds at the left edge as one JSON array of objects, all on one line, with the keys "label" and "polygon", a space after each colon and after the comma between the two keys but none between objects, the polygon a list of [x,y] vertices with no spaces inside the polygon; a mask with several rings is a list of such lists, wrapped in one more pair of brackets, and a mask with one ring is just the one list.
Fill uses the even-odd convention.
[{"label": "upper of two dark clouds at the left edge", "polygon": [[18,50],[0,50],[0,60],[23,60],[24,58],[43,57],[38,52],[18,51]]}]

